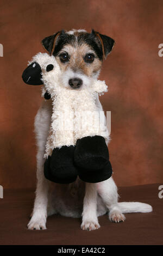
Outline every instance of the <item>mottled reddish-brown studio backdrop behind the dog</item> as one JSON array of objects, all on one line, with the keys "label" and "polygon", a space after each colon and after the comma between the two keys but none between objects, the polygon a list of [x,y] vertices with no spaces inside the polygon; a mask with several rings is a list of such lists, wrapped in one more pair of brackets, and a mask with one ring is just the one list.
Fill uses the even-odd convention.
[{"label": "mottled reddish-brown studio backdrop behind the dog", "polygon": [[111,111],[110,159],[118,186],[163,182],[162,84],[163,1],[1,0],[0,184],[34,187],[34,117],[40,88],[21,75],[40,41],[60,29],[95,28],[116,41],[100,78],[109,86],[101,97]]}]

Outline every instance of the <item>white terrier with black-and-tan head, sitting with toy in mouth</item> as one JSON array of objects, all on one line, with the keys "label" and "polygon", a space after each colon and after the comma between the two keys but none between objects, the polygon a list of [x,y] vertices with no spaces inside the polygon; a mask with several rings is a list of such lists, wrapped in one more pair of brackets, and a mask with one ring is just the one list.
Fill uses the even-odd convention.
[{"label": "white terrier with black-and-tan head, sitting with toy in mouth", "polygon": [[[59,31],[42,40],[49,54],[53,54],[64,71],[62,83],[74,90],[89,83],[90,78],[98,78],[103,60],[114,47],[114,40],[94,30],[84,29]],[[96,97],[99,111],[103,111]],[[37,186],[32,217],[28,229],[46,229],[47,216],[60,214],[67,217],[82,217],[83,230],[95,230],[100,227],[98,216],[108,213],[109,220],[121,222],[128,212],[151,212],[152,206],[139,202],[118,203],[118,192],[114,180],[98,183],[85,183],[79,178],[72,184],[54,184],[43,174],[43,155],[51,125],[52,101],[43,101],[35,117],[37,142]],[[106,139],[108,143],[109,138]]]}]

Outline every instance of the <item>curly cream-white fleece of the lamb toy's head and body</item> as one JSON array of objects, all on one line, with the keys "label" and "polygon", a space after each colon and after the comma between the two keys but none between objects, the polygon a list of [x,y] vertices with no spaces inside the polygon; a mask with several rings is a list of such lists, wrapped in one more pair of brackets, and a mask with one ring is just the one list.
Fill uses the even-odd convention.
[{"label": "curly cream-white fleece of the lamb toy's head and body", "polygon": [[[85,136],[100,135],[108,138],[108,130],[104,120],[100,119],[101,113],[95,104],[97,93],[102,94],[107,91],[105,82],[92,78],[89,87],[65,88],[61,82],[61,70],[54,56],[38,53],[33,57],[32,62],[37,62],[41,66],[44,84],[42,95],[47,90],[53,102],[45,157],[51,155],[54,148],[75,145],[77,139]],[[48,64],[54,66],[53,70],[46,71]]]}]

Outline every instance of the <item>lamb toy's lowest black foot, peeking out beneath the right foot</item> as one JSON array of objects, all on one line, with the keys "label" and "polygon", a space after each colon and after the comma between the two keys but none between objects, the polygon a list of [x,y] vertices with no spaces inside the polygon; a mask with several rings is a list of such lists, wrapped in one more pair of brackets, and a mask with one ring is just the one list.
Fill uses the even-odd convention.
[{"label": "lamb toy's lowest black foot, peeking out beneath the right foot", "polygon": [[97,183],[104,180],[108,180],[112,175],[112,167],[110,161],[101,170],[94,170],[90,172],[87,169],[78,170],[80,180],[89,183]]}]

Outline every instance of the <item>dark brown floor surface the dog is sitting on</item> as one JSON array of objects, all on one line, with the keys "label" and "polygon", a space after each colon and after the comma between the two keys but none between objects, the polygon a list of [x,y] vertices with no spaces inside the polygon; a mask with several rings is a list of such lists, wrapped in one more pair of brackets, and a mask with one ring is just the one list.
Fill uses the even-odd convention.
[{"label": "dark brown floor surface the dog is sitting on", "polygon": [[99,217],[101,228],[80,229],[80,219],[54,215],[47,230],[27,230],[34,191],[4,190],[0,199],[0,245],[161,245],[163,244],[163,199],[159,184],[121,187],[121,201],[139,201],[153,206],[148,214],[126,214],[124,223],[111,223]]}]

